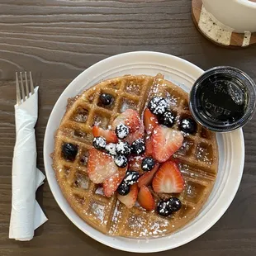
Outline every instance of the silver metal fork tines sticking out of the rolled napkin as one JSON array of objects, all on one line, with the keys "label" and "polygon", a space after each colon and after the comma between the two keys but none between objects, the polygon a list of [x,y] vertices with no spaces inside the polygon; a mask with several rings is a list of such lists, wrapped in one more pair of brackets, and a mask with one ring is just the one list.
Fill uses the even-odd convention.
[{"label": "silver metal fork tines sticking out of the rolled napkin", "polygon": [[[26,94],[25,94],[25,88],[23,85],[23,78],[25,78]],[[30,90],[29,90],[29,86],[28,86],[28,82],[27,82],[28,79],[27,79],[26,72],[24,72],[24,74],[22,74],[22,72],[20,72],[20,83],[21,83],[21,90],[20,90],[18,73],[16,72],[17,105],[21,105],[22,102],[26,102],[26,99],[28,99],[35,92],[31,71],[30,71],[29,80],[30,80]],[[31,91],[31,95],[30,95],[30,91]]]}]

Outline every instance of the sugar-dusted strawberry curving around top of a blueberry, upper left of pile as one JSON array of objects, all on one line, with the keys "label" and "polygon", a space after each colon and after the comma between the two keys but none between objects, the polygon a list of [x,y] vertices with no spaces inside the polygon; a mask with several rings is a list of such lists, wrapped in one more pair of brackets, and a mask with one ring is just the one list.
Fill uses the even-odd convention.
[{"label": "sugar-dusted strawberry curving around top of a blueberry, upper left of pile", "polygon": [[137,111],[133,109],[126,109],[122,112],[112,123],[112,130],[116,129],[116,126],[125,124],[129,127],[130,132],[134,132],[140,128],[140,116]]}]

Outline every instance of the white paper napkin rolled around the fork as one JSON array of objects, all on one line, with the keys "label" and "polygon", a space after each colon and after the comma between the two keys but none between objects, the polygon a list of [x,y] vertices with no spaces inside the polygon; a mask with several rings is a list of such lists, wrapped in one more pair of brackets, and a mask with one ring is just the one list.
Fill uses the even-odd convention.
[{"label": "white paper napkin rolled around the fork", "polygon": [[16,144],[12,159],[12,213],[9,238],[31,240],[34,230],[47,218],[36,201],[36,189],[45,175],[36,168],[38,87],[26,102],[15,105]]}]

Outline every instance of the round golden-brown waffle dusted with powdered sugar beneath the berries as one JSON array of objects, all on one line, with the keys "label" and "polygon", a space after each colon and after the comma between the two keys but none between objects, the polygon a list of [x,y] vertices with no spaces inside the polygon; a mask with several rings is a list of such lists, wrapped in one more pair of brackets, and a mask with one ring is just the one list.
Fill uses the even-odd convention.
[{"label": "round golden-brown waffle dusted with powdered sugar beneath the berries", "polygon": [[[110,107],[99,102],[101,93],[114,97]],[[88,150],[92,148],[92,126],[107,128],[122,111],[135,109],[142,115],[149,98],[154,95],[166,98],[177,114],[176,125],[182,117],[191,116],[187,93],[173,83],[156,77],[127,75],[103,81],[69,99],[67,111],[55,135],[53,167],[64,197],[74,211],[89,225],[107,235],[132,238],[150,238],[168,235],[187,225],[201,210],[216,180],[218,149],[216,136],[197,126],[195,135],[185,135],[183,146],[173,155],[185,180],[181,194],[156,194],[155,200],[170,196],[179,197],[183,203],[172,216],[159,216],[155,211],[145,211],[138,203],[128,209],[117,200],[116,194],[105,197],[102,187],[93,184],[87,173]],[[78,145],[74,162],[65,160],[61,149],[64,143]]]}]

